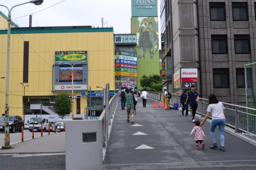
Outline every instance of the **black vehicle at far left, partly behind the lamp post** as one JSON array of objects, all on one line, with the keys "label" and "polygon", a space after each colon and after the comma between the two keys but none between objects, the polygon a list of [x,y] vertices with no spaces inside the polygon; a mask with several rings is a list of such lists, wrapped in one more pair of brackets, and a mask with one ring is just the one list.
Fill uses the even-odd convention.
[{"label": "black vehicle at far left, partly behind the lamp post", "polygon": [[[22,132],[22,126],[24,126],[24,121],[21,116],[9,116],[9,131],[15,133],[19,130]],[[5,116],[0,117],[0,130],[5,130]]]}]

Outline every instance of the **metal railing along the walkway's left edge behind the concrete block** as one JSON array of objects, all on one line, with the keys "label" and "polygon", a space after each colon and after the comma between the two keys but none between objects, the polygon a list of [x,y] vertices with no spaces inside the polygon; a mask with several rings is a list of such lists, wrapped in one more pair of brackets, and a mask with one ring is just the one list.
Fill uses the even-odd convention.
[{"label": "metal railing along the walkway's left edge behind the concrete block", "polygon": [[112,122],[119,101],[119,93],[116,93],[109,101],[109,83],[107,83],[106,88],[103,89],[103,100],[105,101],[105,108],[99,116],[99,120],[102,120],[102,147],[105,148],[103,151],[104,161],[106,151],[108,151],[109,147]]}]

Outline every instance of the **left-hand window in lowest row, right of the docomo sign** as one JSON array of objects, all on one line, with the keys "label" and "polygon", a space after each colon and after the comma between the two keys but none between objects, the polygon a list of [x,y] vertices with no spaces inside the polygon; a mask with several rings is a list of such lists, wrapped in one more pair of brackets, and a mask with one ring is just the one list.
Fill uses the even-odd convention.
[{"label": "left-hand window in lowest row, right of the docomo sign", "polygon": [[214,88],[229,88],[228,68],[214,68]]}]

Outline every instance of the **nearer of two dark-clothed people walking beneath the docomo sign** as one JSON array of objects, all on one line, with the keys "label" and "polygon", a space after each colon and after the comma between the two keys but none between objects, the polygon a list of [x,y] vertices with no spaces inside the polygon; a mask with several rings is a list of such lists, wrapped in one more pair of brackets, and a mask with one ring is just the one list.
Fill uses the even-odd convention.
[{"label": "nearer of two dark-clothed people walking beneath the docomo sign", "polygon": [[189,105],[192,109],[192,122],[194,123],[195,120],[195,115],[196,115],[196,112],[197,112],[197,102],[199,101],[199,96],[198,96],[198,92],[195,91],[195,85],[191,85],[191,90],[188,92],[188,95],[187,95],[187,100],[185,102],[185,105],[187,104],[189,100]]}]

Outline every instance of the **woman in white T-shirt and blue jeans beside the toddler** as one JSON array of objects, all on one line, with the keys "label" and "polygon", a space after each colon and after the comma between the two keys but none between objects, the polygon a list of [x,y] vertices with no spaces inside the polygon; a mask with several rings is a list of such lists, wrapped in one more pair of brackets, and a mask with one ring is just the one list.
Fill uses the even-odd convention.
[{"label": "woman in white T-shirt and blue jeans beside the toddler", "polygon": [[220,141],[221,141],[221,148],[220,151],[225,151],[224,148],[224,128],[225,128],[225,108],[221,102],[219,102],[215,96],[215,94],[210,94],[208,96],[209,100],[209,106],[206,110],[207,114],[203,120],[203,122],[200,124],[202,127],[207,120],[207,118],[211,114],[211,123],[210,123],[210,136],[212,138],[212,146],[210,149],[218,148],[216,137],[215,137],[215,128],[219,127],[219,135],[220,135]]}]

